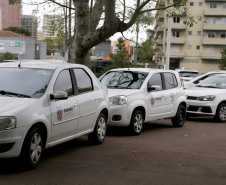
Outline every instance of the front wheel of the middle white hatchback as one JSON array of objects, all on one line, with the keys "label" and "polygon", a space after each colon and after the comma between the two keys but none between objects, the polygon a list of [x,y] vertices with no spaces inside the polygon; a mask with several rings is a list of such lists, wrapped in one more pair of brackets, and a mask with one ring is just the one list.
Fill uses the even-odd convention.
[{"label": "front wheel of the middle white hatchback", "polygon": [[130,131],[132,134],[139,135],[143,129],[144,116],[140,110],[135,110],[130,120]]}]

